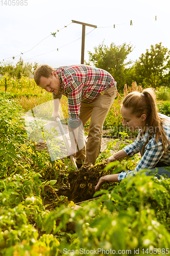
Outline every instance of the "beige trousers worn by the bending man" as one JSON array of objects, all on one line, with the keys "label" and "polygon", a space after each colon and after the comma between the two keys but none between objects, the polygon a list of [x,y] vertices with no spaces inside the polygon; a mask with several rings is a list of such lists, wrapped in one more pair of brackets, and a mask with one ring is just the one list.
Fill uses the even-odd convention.
[{"label": "beige trousers worn by the bending man", "polygon": [[88,140],[85,147],[83,129],[79,129],[78,152],[76,162],[89,164],[95,163],[100,154],[103,124],[116,96],[116,87],[106,88],[98,98],[91,103],[81,103],[80,120],[82,127],[90,119]]}]

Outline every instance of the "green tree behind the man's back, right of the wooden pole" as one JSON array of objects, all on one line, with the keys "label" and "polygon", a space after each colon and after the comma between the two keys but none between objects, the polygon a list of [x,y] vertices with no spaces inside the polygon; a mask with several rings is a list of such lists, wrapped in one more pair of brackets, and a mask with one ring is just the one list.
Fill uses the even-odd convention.
[{"label": "green tree behind the man's back, right of the wooden pole", "polygon": [[108,71],[117,82],[118,90],[122,90],[126,83],[126,66],[132,63],[131,60],[125,63],[125,60],[132,51],[130,44],[116,46],[112,43],[108,47],[102,42],[99,47],[94,47],[94,53],[88,51],[89,63],[86,62],[86,64]]}]

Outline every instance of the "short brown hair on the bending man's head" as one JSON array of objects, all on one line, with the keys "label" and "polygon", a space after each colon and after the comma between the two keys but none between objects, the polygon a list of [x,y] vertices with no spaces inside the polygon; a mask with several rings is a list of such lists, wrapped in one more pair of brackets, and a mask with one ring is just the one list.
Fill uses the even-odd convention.
[{"label": "short brown hair on the bending man's head", "polygon": [[39,86],[41,76],[46,77],[46,78],[51,77],[52,72],[55,72],[55,69],[53,69],[52,67],[50,67],[48,65],[39,66],[34,72],[34,80],[35,80],[37,86]]}]

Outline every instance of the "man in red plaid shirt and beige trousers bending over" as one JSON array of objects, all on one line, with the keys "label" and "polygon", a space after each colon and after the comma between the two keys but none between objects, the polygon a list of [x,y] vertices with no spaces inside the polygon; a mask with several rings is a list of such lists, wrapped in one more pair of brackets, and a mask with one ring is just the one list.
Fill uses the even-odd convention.
[{"label": "man in red plaid shirt and beige trousers bending over", "polygon": [[[116,82],[113,77],[105,70],[87,65],[65,66],[56,70],[42,65],[36,69],[34,79],[42,89],[53,93],[54,120],[57,116],[60,118],[58,102],[61,101],[62,94],[68,98],[71,140],[68,156],[76,156],[78,168],[82,163],[94,164],[101,150],[103,124],[116,96]],[[84,127],[90,117],[85,148],[83,130],[80,127]]]}]

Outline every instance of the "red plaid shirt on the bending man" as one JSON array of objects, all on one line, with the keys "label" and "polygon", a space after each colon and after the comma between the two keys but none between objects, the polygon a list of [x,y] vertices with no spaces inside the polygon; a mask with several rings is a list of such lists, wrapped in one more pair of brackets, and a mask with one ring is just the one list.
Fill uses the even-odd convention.
[{"label": "red plaid shirt on the bending man", "polygon": [[[68,115],[71,120],[78,120],[81,102],[90,103],[107,87],[116,86],[113,77],[105,70],[87,65],[72,65],[56,69],[60,79],[59,95],[68,98]],[[59,98],[53,94],[53,98]]]}]

